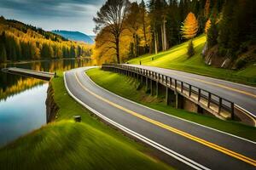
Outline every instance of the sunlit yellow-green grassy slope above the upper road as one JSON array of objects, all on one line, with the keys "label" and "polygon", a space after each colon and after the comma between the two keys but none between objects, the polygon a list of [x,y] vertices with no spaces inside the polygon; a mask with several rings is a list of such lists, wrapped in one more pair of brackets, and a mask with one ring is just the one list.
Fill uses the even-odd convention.
[{"label": "sunlit yellow-green grassy slope above the upper road", "polygon": [[[166,52],[159,54],[146,54],[139,58],[131,59],[128,62],[131,64],[152,65],[178,71],[187,71],[195,74],[204,75],[207,77],[220,78],[232,82],[241,82],[256,86],[256,65],[248,65],[247,68],[234,71],[222,68],[215,68],[206,65],[201,57],[201,51],[205,45],[206,36],[201,35],[193,41],[195,47],[195,55],[188,59],[187,47],[188,42],[183,42],[172,47]],[[154,58],[154,60],[152,60]]]}]

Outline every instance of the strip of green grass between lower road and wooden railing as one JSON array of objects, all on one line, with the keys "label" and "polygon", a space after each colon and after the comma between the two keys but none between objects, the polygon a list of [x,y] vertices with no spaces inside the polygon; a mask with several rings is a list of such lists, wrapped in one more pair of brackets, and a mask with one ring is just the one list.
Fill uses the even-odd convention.
[{"label": "strip of green grass between lower road and wooden railing", "polygon": [[238,122],[223,121],[213,116],[200,115],[167,106],[164,99],[146,94],[143,88],[137,90],[138,82],[134,78],[125,77],[124,75],[119,75],[110,71],[102,71],[100,69],[91,69],[87,71],[87,74],[94,82],[102,86],[102,88],[106,88],[114,94],[118,94],[126,99],[131,99],[157,111],[163,111],[170,115],[197,122],[207,127],[213,127],[245,139],[256,141],[256,127],[250,127]]}]

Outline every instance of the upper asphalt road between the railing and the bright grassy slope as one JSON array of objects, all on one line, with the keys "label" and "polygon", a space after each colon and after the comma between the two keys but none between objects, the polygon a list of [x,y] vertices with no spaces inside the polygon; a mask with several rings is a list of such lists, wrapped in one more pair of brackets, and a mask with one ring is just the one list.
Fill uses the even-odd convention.
[{"label": "upper asphalt road between the railing and the bright grassy slope", "polygon": [[174,71],[147,65],[132,66],[148,69],[149,71],[155,71],[176,78],[177,80],[188,82],[198,88],[212,92],[212,94],[217,94],[224,99],[229,99],[236,105],[249,111],[256,118],[256,88],[183,71]]}]

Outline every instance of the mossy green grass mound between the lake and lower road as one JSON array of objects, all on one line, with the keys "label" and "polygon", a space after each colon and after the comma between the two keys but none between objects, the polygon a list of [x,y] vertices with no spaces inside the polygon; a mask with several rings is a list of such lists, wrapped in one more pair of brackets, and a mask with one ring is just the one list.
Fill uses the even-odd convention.
[{"label": "mossy green grass mound between the lake and lower road", "polygon": [[[170,169],[152,150],[91,116],[52,81],[58,118],[0,149],[0,169]],[[74,122],[73,115],[82,116]]]}]

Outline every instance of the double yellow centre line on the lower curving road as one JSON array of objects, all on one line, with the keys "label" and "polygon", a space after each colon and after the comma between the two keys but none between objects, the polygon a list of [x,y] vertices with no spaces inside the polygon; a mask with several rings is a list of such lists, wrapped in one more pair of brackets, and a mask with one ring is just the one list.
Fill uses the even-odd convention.
[{"label": "double yellow centre line on the lower curving road", "polygon": [[143,119],[146,122],[150,122],[150,123],[152,123],[152,124],[154,124],[154,125],[156,125],[158,127],[162,127],[162,128],[164,128],[164,129],[166,129],[168,131],[171,131],[172,133],[177,133],[177,134],[179,134],[179,135],[181,135],[181,136],[183,136],[183,137],[185,137],[187,139],[191,139],[191,140],[194,140],[195,142],[198,142],[200,144],[204,144],[204,145],[206,145],[206,146],[208,146],[208,147],[210,147],[210,148],[212,148],[214,150],[218,150],[220,152],[223,152],[226,155],[235,157],[236,159],[239,159],[241,161],[245,161],[245,162],[253,165],[254,167],[256,167],[256,160],[253,160],[252,158],[249,158],[247,156],[243,156],[243,155],[241,155],[239,153],[236,153],[235,151],[228,150],[228,149],[226,149],[226,148],[224,148],[222,146],[219,146],[217,144],[212,144],[211,142],[208,142],[205,139],[200,139],[198,137],[195,137],[194,135],[191,135],[189,133],[185,133],[185,132],[183,132],[181,130],[178,130],[177,128],[170,127],[170,126],[168,126],[168,125],[166,125],[166,124],[164,124],[162,122],[154,121],[153,119],[151,119],[151,118],[149,118],[147,116],[143,116],[143,115],[141,115],[141,114],[139,114],[139,113],[137,113],[135,111],[128,110],[125,107],[122,107],[121,105],[117,105],[117,104],[109,101],[108,99],[104,99],[101,96],[99,96],[98,94],[95,94],[92,91],[90,91],[88,88],[85,88],[84,85],[79,81],[77,73],[75,73],[75,77],[76,77],[77,81],[79,82],[79,85],[82,88],[84,88],[85,91],[87,91],[88,93],[92,94],[97,99],[101,99],[102,101],[108,103],[109,105],[113,105],[114,107],[118,108],[121,111],[125,111],[126,113],[129,113],[132,116],[137,116],[138,118]]}]

